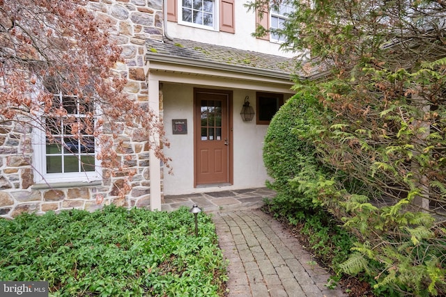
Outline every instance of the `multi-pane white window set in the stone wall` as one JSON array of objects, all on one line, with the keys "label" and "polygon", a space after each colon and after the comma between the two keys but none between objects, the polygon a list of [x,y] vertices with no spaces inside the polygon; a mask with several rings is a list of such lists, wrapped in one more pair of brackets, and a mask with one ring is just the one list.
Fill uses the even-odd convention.
[{"label": "multi-pane white window set in the stone wall", "polygon": [[45,128],[33,134],[36,183],[98,179],[93,115],[92,102],[54,94],[51,112],[41,118]]}]

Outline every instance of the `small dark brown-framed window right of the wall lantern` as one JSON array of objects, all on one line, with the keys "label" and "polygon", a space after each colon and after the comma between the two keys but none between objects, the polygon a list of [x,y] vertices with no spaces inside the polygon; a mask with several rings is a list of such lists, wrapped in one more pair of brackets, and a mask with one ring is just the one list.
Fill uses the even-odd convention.
[{"label": "small dark brown-framed window right of the wall lantern", "polygon": [[269,125],[272,117],[283,104],[283,94],[258,92],[256,94],[256,124]]}]

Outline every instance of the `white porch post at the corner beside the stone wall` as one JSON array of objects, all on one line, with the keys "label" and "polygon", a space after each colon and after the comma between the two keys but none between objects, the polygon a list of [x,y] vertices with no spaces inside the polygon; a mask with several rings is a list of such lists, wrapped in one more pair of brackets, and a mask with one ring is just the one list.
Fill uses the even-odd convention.
[{"label": "white porch post at the corner beside the stone wall", "polygon": [[[148,74],[148,105],[156,115],[160,115],[160,81],[152,79],[153,75]],[[155,135],[155,141],[160,141]],[[161,210],[161,167],[160,160],[157,159],[153,150],[150,152],[150,185],[151,185],[151,211]]]}]

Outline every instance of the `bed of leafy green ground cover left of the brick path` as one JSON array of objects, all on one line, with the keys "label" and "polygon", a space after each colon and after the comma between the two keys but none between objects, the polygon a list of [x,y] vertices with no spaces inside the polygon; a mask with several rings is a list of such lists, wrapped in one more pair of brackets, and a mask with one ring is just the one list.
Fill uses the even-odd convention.
[{"label": "bed of leafy green ground cover left of the brick path", "polygon": [[226,262],[210,217],[108,206],[0,220],[0,279],[50,296],[222,296]]}]

